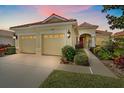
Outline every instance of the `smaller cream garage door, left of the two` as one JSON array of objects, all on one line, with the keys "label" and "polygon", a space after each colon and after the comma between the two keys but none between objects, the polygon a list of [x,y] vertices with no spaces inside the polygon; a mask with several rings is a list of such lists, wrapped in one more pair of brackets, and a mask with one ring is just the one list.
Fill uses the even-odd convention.
[{"label": "smaller cream garage door, left of the two", "polygon": [[36,53],[36,36],[20,36],[19,46],[23,53]]}]

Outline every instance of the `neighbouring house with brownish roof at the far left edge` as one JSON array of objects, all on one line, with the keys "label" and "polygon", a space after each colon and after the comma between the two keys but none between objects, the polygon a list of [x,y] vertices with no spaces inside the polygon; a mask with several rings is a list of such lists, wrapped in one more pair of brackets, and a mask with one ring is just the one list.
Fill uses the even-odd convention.
[{"label": "neighbouring house with brownish roof at the far left edge", "polygon": [[10,44],[14,46],[14,32],[7,31],[7,30],[0,30],[0,44]]}]

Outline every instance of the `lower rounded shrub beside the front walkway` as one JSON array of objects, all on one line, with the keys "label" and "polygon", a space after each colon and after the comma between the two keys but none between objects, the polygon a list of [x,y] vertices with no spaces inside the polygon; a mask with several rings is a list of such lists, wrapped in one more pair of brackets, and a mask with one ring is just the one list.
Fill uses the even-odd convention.
[{"label": "lower rounded shrub beside the front walkway", "polygon": [[82,53],[75,55],[74,62],[77,65],[89,66],[87,55],[82,54]]}]

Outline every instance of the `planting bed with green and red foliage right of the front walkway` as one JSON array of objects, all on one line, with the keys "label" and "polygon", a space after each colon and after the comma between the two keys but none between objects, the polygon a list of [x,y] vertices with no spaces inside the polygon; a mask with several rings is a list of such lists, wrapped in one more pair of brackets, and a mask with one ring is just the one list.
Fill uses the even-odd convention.
[{"label": "planting bed with green and red foliage right of the front walkway", "polygon": [[124,77],[124,41],[110,40],[90,50],[118,77]]}]

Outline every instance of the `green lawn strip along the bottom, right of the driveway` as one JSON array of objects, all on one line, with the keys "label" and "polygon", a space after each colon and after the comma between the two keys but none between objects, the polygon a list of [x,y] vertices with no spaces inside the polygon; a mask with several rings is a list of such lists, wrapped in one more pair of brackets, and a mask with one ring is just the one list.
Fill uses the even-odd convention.
[{"label": "green lawn strip along the bottom, right of the driveway", "polygon": [[40,85],[43,88],[124,88],[123,79],[54,70]]}]

